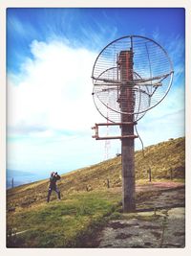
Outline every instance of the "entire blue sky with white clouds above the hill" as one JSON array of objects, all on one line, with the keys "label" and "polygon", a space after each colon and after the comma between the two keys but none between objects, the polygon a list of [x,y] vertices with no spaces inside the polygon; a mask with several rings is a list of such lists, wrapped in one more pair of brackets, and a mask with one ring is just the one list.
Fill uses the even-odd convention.
[{"label": "entire blue sky with white clouds above the hill", "polygon": [[124,35],[156,40],[175,71],[168,95],[138,122],[144,147],[184,136],[184,9],[9,8],[8,169],[63,174],[120,152],[119,140],[92,138],[106,120],[91,76],[99,52]]}]

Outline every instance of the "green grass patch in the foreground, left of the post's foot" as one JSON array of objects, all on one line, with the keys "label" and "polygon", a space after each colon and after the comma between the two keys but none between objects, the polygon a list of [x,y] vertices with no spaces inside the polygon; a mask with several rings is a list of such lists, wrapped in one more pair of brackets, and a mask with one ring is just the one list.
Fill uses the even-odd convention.
[{"label": "green grass patch in the foreground, left of the post's foot", "polygon": [[[42,204],[10,215],[15,232],[9,247],[78,247],[104,225],[117,208],[120,195],[107,192],[74,194],[66,200]],[[84,244],[83,244],[84,243]]]}]

